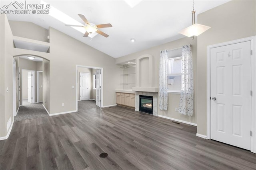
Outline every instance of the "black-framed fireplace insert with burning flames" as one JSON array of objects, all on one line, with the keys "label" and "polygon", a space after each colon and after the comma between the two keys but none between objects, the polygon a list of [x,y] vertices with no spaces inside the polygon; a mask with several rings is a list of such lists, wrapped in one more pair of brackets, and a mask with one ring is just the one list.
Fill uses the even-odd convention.
[{"label": "black-framed fireplace insert with burning flames", "polygon": [[153,96],[140,95],[140,112],[153,114]]}]

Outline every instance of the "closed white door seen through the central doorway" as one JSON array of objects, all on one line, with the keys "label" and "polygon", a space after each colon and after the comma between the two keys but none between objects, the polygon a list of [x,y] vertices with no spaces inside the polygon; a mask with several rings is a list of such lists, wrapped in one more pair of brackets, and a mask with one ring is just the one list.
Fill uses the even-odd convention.
[{"label": "closed white door seen through the central doorway", "polygon": [[90,75],[80,72],[80,100],[90,99]]}]

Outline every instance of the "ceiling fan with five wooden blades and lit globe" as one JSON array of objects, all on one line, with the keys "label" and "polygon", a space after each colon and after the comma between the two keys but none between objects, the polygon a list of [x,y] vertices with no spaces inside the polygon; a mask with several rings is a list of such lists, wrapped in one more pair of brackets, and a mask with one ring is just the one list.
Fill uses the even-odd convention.
[{"label": "ceiling fan with five wooden blades and lit globe", "polygon": [[84,29],[86,30],[86,32],[84,33],[84,37],[88,37],[89,34],[93,34],[94,32],[97,32],[98,34],[104,36],[104,37],[108,37],[109,35],[98,30],[98,28],[108,28],[108,27],[112,27],[111,24],[99,24],[99,25],[94,25],[90,22],[88,22],[88,20],[85,18],[84,15],[82,14],[78,14],[78,16],[80,16],[80,18],[84,21],[84,23],[86,24],[84,25],[69,25],[69,24],[65,24],[65,26],[77,26],[77,27],[84,27]]}]

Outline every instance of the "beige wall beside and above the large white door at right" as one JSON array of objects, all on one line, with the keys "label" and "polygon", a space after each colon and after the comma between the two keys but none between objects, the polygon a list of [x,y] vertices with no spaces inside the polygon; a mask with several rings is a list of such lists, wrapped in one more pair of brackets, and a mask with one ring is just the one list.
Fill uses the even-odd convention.
[{"label": "beige wall beside and above the large white door at right", "polygon": [[207,46],[256,35],[256,1],[232,0],[198,15],[198,24],[211,28],[198,36],[197,132],[206,135]]}]

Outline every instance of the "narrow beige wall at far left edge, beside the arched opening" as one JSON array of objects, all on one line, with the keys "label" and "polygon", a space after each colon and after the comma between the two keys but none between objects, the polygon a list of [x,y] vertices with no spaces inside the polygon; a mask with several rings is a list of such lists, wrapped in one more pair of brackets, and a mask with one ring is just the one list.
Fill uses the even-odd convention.
[{"label": "narrow beige wall at far left edge, beside the arched opening", "polygon": [[[13,41],[6,15],[0,14],[0,137],[7,135],[7,122],[12,116]],[[8,88],[8,92],[6,89]],[[15,112],[15,110],[14,110]]]}]

